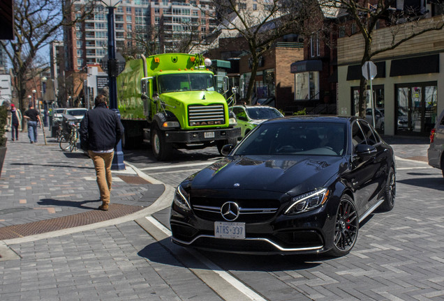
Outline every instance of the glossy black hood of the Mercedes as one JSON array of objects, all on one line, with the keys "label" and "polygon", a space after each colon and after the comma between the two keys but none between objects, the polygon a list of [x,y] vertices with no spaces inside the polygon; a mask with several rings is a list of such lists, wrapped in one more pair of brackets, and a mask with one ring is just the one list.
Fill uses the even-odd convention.
[{"label": "glossy black hood of the Mercedes", "polygon": [[226,157],[189,177],[192,189],[240,189],[300,194],[330,185],[346,169],[343,157]]}]

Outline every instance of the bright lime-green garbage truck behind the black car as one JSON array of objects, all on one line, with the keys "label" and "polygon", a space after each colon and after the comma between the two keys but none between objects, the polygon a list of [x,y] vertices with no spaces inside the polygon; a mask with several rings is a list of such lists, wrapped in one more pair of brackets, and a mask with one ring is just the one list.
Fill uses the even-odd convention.
[{"label": "bright lime-green garbage truck behind the black car", "polygon": [[150,142],[154,157],[168,160],[175,148],[217,146],[220,152],[235,145],[240,130],[222,95],[228,89],[217,91],[209,62],[201,54],[179,53],[127,61],[117,77],[123,147]]}]

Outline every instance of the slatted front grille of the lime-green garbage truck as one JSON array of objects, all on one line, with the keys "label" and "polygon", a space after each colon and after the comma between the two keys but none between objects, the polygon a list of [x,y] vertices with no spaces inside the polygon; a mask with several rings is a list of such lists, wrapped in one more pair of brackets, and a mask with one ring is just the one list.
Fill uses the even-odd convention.
[{"label": "slatted front grille of the lime-green garbage truck", "polygon": [[223,105],[193,105],[188,107],[188,125],[223,125],[225,124]]}]

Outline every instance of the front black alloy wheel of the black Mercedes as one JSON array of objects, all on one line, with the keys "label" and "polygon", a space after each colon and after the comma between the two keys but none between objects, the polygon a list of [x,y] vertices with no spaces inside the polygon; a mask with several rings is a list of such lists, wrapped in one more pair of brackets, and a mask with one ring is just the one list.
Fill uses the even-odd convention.
[{"label": "front black alloy wheel of the black Mercedes", "polygon": [[357,240],[359,220],[353,200],[347,194],[341,198],[336,214],[334,227],[334,246],[330,255],[334,257],[344,256],[350,252]]}]

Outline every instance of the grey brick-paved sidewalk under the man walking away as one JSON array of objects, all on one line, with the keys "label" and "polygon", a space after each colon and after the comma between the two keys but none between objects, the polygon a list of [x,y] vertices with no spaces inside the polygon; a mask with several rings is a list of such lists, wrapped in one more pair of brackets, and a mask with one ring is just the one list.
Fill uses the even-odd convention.
[{"label": "grey brick-paved sidewalk under the man walking away", "polygon": [[113,171],[115,206],[109,213],[91,214],[101,204],[92,161],[82,151],[61,151],[52,137],[47,136],[45,145],[41,132],[39,138],[30,144],[27,133],[20,132],[19,141],[8,140],[0,177],[0,232],[5,226],[84,213],[89,213],[89,222],[107,214],[114,218],[151,205],[164,191],[163,185],[148,183],[129,167]]}]

